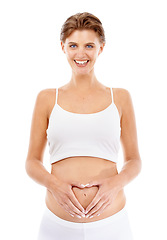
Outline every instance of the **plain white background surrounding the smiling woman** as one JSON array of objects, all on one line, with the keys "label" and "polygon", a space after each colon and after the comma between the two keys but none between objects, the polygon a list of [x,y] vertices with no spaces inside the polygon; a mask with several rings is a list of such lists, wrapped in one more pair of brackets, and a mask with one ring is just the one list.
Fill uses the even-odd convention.
[{"label": "plain white background surrounding the smiling woman", "polygon": [[[98,80],[132,96],[141,174],[126,188],[135,240],[167,239],[166,1],[0,2],[1,239],[36,239],[46,189],[25,172],[29,133],[39,91],[66,84],[71,70],[59,34],[67,17],[91,12],[103,23],[106,46]],[[122,162],[122,149],[119,154]],[[48,147],[44,164],[50,171]]]}]

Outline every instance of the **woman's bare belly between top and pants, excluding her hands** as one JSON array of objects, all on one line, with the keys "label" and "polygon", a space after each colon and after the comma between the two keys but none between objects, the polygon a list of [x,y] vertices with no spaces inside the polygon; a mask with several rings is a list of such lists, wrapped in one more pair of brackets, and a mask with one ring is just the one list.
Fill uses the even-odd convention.
[{"label": "woman's bare belly between top and pants, excluding her hands", "polygon": [[[100,180],[104,178],[113,177],[118,174],[116,163],[101,159],[97,157],[89,156],[77,156],[62,159],[61,161],[52,164],[51,174],[56,176],[64,182],[78,182],[82,184],[87,184],[91,180]],[[86,207],[91,203],[96,193],[98,192],[98,186],[93,186],[89,188],[72,188],[76,198],[80,204],[86,209]],[[72,217],[68,212],[66,212],[53,197],[52,193],[47,190],[46,192],[46,206],[53,212],[56,216],[71,222],[93,222],[106,217],[110,217],[113,214],[119,212],[126,203],[126,198],[124,191],[121,190],[112,204],[110,204],[99,216],[94,216],[93,218],[81,218],[77,216]]]}]

